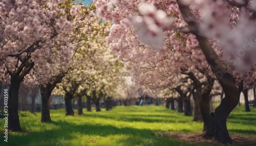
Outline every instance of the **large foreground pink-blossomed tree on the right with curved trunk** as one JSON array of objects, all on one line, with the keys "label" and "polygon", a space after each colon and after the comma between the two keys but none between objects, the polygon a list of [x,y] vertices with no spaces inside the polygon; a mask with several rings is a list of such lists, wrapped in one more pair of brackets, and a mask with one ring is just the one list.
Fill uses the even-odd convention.
[{"label": "large foreground pink-blossomed tree on the right with curved trunk", "polygon": [[[179,72],[190,72],[193,77],[196,70],[206,77],[207,84],[201,90],[197,88],[206,104],[201,107],[202,115],[209,119],[206,128],[211,129],[206,137],[231,143],[227,116],[237,106],[242,88],[254,88],[256,83],[252,57],[256,53],[255,1],[94,3],[97,14],[113,22],[107,40],[132,71],[135,85],[158,90],[176,84]],[[248,29],[244,32],[245,27]],[[203,85],[194,79],[194,85]],[[208,101],[215,80],[225,98],[212,116]]]}]

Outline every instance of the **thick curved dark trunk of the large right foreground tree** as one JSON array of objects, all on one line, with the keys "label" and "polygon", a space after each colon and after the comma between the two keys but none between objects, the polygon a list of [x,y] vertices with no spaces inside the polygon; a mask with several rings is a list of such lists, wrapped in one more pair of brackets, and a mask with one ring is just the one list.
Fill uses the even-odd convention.
[{"label": "thick curved dark trunk of the large right foreground tree", "polygon": [[229,137],[227,131],[226,119],[229,113],[237,106],[239,102],[239,89],[234,84],[234,79],[226,71],[208,40],[198,33],[198,19],[194,17],[189,6],[184,5],[181,0],[178,0],[177,2],[183,18],[189,25],[189,30],[196,35],[200,48],[225,93],[225,98],[223,98],[221,101],[220,106],[216,108],[214,114],[215,138],[222,143],[232,143],[232,139]]}]

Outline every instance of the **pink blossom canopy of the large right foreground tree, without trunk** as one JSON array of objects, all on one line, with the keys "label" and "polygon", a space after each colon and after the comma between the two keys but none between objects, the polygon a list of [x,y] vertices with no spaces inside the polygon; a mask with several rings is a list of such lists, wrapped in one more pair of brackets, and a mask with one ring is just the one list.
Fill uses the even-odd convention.
[{"label": "pink blossom canopy of the large right foreground tree, without trunk", "polygon": [[[219,59],[222,60],[223,65],[236,79],[237,85],[244,81],[249,87],[255,87],[254,77],[248,78],[248,75],[254,75],[255,68],[252,56],[255,50],[254,30],[256,27],[253,19],[249,18],[253,12],[250,11],[248,15],[242,9],[219,0],[182,2],[190,5],[194,16],[201,24],[197,31],[208,38],[208,42]],[[94,3],[97,14],[105,20],[113,22],[110,36],[106,39],[110,42],[113,52],[125,62],[126,69],[132,72],[132,80],[135,85],[159,89],[176,84],[179,81],[177,76],[181,68],[187,68],[193,72],[200,71],[204,75],[216,78],[201,51],[196,36],[189,33],[188,24],[183,19],[177,1],[148,0],[129,1],[129,3],[115,1],[113,9],[109,9],[109,13],[105,13],[104,8],[112,6],[113,3],[106,0],[94,0]],[[248,4],[247,9],[254,3],[250,1]],[[156,11],[161,12],[161,15],[156,15]],[[172,16],[174,20],[170,25],[159,29],[160,25],[157,19],[164,16]],[[244,28],[248,27],[250,29],[245,31]],[[242,32],[243,30],[244,32]],[[152,33],[154,31],[159,36],[155,40],[151,35],[154,34]],[[148,41],[160,49],[151,50],[152,46],[148,45]],[[246,43],[247,41],[250,43]],[[163,46],[159,47],[162,44]],[[246,52],[244,53],[241,51],[243,46],[250,47],[250,50],[244,50]],[[230,58],[230,56],[236,53],[244,56],[240,55],[235,59],[237,64],[233,64],[234,57]],[[232,62],[228,62],[227,58]],[[246,72],[238,71],[248,68],[250,70]],[[244,84],[244,87],[248,86]]]}]

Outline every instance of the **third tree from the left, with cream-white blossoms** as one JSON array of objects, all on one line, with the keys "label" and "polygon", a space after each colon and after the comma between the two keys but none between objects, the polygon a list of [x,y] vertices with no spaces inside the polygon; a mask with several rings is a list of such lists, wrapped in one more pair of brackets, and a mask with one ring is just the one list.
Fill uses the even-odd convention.
[{"label": "third tree from the left, with cream-white blossoms", "polygon": [[[85,25],[88,28],[80,29],[84,30],[84,34],[88,33],[84,35],[88,39],[79,42],[80,46],[77,46],[67,76],[54,91],[65,96],[66,115],[74,115],[71,106],[74,95],[78,97],[79,106],[84,94],[92,96],[97,110],[100,111],[99,100],[102,96],[112,96],[114,88],[123,81],[120,74],[123,64],[114,56],[108,42],[104,39],[110,30],[111,23],[102,23],[99,19],[94,21],[92,18],[89,22],[83,23],[88,24],[88,26]],[[81,114],[81,111],[79,113]]]}]

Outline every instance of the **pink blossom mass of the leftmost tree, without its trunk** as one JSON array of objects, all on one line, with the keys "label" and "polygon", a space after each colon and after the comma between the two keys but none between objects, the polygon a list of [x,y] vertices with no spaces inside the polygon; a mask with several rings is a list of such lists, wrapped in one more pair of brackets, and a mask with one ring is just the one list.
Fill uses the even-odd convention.
[{"label": "pink blossom mass of the leftmost tree, without its trunk", "polygon": [[22,64],[29,65],[32,62],[34,66],[25,77],[25,83],[33,85],[48,81],[48,78],[37,77],[52,71],[50,60],[54,56],[55,44],[59,45],[58,50],[62,52],[60,57],[66,58],[62,62],[68,61],[73,48],[63,34],[72,30],[73,25],[67,18],[68,9],[60,7],[65,3],[61,0],[0,2],[0,68],[3,70],[1,76],[6,79],[1,81],[10,83],[10,76],[16,70],[24,69]]}]

